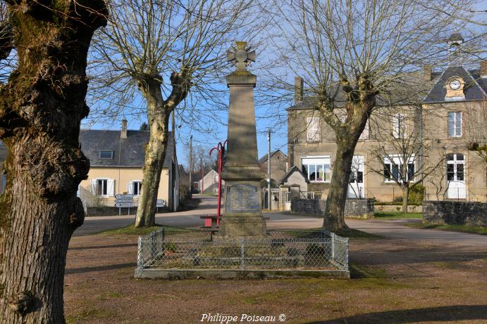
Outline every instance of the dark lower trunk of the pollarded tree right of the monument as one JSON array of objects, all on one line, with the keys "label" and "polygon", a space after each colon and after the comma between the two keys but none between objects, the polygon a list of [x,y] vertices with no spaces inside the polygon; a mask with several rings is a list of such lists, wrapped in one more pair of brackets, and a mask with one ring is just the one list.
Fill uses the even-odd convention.
[{"label": "dark lower trunk of the pollarded tree right of the monument", "polygon": [[348,181],[350,179],[355,145],[339,142],[331,177],[330,190],[326,198],[323,228],[337,231],[348,228],[345,224],[345,201],[347,200]]}]

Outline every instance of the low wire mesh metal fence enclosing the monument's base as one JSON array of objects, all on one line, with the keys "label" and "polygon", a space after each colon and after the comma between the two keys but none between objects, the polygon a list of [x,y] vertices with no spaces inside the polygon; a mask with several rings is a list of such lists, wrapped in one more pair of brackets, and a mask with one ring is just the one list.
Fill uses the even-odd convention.
[{"label": "low wire mesh metal fence enclosing the monument's base", "polygon": [[139,238],[137,267],[348,271],[348,238],[328,231],[269,230],[266,238],[218,238],[161,228]]}]

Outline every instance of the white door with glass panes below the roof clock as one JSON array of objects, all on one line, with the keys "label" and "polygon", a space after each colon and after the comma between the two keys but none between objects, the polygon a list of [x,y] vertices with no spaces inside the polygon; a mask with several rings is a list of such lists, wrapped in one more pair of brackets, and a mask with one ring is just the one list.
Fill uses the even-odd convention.
[{"label": "white door with glass panes below the roof clock", "polygon": [[465,161],[463,154],[450,154],[446,157],[446,196],[449,199],[467,198],[464,170]]}]

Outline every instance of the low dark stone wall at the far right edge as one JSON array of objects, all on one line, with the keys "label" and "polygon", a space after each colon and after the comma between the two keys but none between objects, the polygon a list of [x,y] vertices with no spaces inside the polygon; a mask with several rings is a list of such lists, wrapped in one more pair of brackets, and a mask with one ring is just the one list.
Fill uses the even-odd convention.
[{"label": "low dark stone wall at the far right edge", "polygon": [[423,218],[429,223],[487,226],[487,202],[423,202]]}]

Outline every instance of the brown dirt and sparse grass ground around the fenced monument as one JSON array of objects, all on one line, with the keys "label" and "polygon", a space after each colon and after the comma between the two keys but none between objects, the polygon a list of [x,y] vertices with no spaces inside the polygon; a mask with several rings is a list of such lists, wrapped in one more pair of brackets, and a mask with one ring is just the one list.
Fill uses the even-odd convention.
[{"label": "brown dirt and sparse grass ground around the fenced monument", "polygon": [[[351,240],[352,280],[135,280],[137,238],[73,238],[68,323],[201,323],[203,313],[285,323],[487,323],[487,250]],[[280,323],[276,321],[276,323]]]}]

